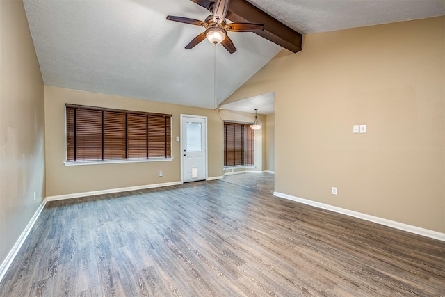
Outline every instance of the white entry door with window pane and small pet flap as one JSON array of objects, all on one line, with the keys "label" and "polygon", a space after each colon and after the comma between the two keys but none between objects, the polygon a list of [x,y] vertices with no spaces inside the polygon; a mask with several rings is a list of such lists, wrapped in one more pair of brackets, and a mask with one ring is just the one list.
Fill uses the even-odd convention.
[{"label": "white entry door with window pane and small pet flap", "polygon": [[182,182],[207,179],[207,117],[181,115]]}]

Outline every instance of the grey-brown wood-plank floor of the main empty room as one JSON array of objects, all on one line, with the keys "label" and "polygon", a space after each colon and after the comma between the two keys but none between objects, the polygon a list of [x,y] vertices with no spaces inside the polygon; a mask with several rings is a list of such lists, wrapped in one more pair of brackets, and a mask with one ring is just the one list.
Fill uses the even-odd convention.
[{"label": "grey-brown wood-plank floor of the main empty room", "polygon": [[445,243],[222,181],[48,202],[0,296],[444,296]]}]

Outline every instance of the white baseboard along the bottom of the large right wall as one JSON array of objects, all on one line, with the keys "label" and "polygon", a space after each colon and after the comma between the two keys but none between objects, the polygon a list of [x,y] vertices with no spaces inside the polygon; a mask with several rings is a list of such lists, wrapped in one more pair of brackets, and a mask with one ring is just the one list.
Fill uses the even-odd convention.
[{"label": "white baseboard along the bottom of the large right wall", "polygon": [[321,202],[298,198],[298,197],[283,194],[283,193],[273,192],[273,195],[280,197],[280,198],[284,198],[284,199],[300,202],[303,204],[311,205],[313,207],[318,207],[321,209],[327,209],[330,211],[334,211],[339,214],[346,214],[346,216],[353,216],[355,218],[361,218],[362,220],[368,220],[369,222],[378,223],[380,225],[385,225],[388,227],[393,227],[398,230],[403,230],[403,231],[411,232],[414,234],[419,234],[422,236],[430,237],[432,239],[437,239],[439,241],[445,241],[445,233],[436,232],[436,231],[432,231],[432,230],[428,230],[428,229],[424,229],[424,228],[416,227],[416,226],[412,226],[412,225],[407,225],[404,223],[399,223],[394,220],[387,220],[386,218],[379,218],[378,216],[370,216],[369,214],[362,214],[361,212],[352,211],[349,209],[343,209],[341,207],[334,207],[330,204],[324,204]]}]

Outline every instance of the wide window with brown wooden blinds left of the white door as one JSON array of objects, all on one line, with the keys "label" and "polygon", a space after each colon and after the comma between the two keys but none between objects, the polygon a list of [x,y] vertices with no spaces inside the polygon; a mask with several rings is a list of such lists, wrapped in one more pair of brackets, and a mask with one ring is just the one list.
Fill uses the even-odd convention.
[{"label": "wide window with brown wooden blinds left of the white door", "polygon": [[67,161],[171,158],[172,115],[66,104]]}]

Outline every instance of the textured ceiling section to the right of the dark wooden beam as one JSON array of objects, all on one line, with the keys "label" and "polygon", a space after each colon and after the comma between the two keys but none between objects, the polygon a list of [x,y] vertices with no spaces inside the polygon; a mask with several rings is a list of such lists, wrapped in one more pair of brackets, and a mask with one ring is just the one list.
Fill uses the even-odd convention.
[{"label": "textured ceiling section to the right of the dark wooden beam", "polygon": [[445,0],[253,0],[302,34],[402,22],[445,14]]}]

